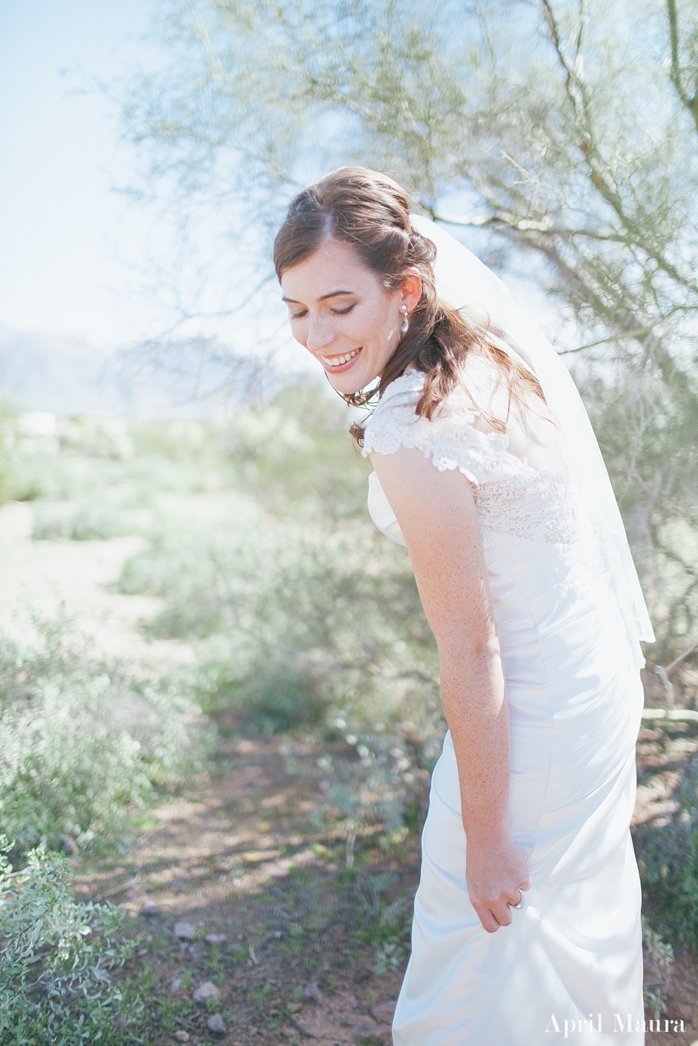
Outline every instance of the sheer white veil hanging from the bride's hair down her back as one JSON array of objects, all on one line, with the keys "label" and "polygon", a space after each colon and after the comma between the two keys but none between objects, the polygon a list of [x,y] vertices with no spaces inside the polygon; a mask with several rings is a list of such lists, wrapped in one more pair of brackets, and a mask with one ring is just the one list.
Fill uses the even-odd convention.
[{"label": "sheer white veil hanging from the bride's hair down her back", "polygon": [[590,509],[603,567],[617,596],[628,636],[631,640],[653,642],[652,624],[611,481],[569,371],[542,331],[487,266],[429,219],[412,214],[411,223],[436,247],[434,275],[438,296],[491,324],[492,333],[502,336],[496,339],[499,347],[518,357],[538,378],[559,423],[562,450],[582,503]]}]

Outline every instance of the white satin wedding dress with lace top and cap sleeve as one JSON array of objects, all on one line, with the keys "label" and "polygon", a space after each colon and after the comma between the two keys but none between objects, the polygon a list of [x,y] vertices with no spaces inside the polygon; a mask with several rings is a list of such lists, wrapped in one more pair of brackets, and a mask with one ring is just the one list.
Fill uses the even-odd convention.
[{"label": "white satin wedding dress with lace top and cap sleeve", "polygon": [[[414,413],[423,381],[412,371],[388,386],[367,423],[364,453],[418,448],[472,484],[510,708],[510,819],[532,887],[510,927],[482,929],[466,887],[447,733],[432,775],[393,1043],[545,1046],[558,1034],[578,1046],[638,1046],[640,885],[629,832],[643,707],[638,647],[580,524],[573,477],[555,437],[546,442],[549,422],[535,419],[532,433],[512,410],[506,435],[495,431],[475,406],[501,409],[481,359],[470,366],[469,358],[463,387],[431,422]],[[375,474],[368,505],[378,527],[404,544]]]}]

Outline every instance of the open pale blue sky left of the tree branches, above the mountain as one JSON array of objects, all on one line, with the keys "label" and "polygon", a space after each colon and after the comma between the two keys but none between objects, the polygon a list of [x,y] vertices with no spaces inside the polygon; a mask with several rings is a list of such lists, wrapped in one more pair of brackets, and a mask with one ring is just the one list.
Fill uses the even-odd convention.
[{"label": "open pale blue sky left of the tree branches, above the mountain", "polygon": [[133,153],[113,105],[76,89],[157,65],[143,39],[155,9],[156,0],[0,0],[2,326],[111,347],[152,321],[129,266],[157,258],[166,230],[113,191]]}]

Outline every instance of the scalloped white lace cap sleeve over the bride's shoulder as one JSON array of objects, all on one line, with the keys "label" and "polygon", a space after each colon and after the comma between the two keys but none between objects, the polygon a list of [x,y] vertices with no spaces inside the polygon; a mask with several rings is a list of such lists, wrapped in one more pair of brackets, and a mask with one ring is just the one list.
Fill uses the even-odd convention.
[{"label": "scalloped white lace cap sleeve over the bride's shoulder", "polygon": [[423,385],[420,371],[391,382],[366,424],[364,456],[416,448],[440,472],[458,469],[474,484],[520,471],[520,462],[506,452],[506,435],[477,428],[479,414],[465,390],[454,390],[432,420],[418,415],[414,407]]}]

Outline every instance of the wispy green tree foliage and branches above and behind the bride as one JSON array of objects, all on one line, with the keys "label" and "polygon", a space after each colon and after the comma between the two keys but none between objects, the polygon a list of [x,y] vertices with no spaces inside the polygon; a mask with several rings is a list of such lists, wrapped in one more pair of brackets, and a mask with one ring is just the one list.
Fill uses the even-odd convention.
[{"label": "wispy green tree foliage and branches above and behind the bride", "polygon": [[360,162],[486,260],[531,256],[661,657],[698,627],[696,25],[696,0],[171,0],[172,63],[125,107],[159,174],[270,229]]}]

